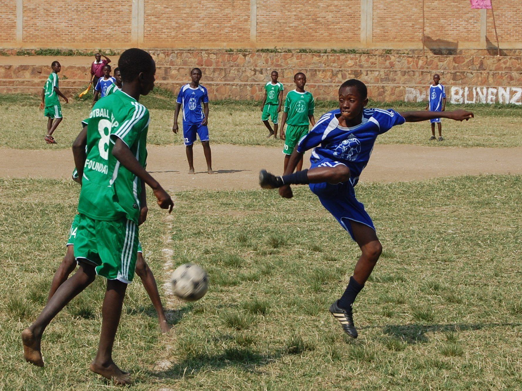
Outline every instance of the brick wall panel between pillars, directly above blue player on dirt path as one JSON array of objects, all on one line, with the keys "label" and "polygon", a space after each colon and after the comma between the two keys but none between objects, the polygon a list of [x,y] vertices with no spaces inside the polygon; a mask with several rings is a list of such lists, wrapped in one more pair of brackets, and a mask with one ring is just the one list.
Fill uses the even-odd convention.
[{"label": "brick wall panel between pillars, directly above blue player on dirt path", "polygon": [[250,41],[250,0],[145,0],[145,42],[176,47]]}]

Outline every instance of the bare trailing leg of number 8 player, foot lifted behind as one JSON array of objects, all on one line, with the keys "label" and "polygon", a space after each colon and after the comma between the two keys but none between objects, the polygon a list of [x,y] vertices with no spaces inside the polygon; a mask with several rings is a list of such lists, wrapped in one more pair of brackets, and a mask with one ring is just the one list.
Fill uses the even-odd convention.
[{"label": "bare trailing leg of number 8 player, foot lifted behind", "polygon": [[42,334],[45,327],[53,320],[67,303],[91,284],[96,278],[94,266],[80,263],[78,271],[63,283],[56,294],[46,304],[38,319],[22,331],[23,357],[37,366],[43,366],[41,353]]}]

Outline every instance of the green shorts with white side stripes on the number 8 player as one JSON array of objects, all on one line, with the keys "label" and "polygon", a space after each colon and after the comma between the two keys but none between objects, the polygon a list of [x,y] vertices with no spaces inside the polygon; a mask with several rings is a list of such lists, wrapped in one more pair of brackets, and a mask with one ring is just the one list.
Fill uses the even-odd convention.
[{"label": "green shorts with white side stripes on the number 8 player", "polygon": [[78,218],[74,239],[76,261],[96,266],[96,274],[130,284],[134,278],[138,252],[138,225],[121,218],[94,220],[84,214]]}]

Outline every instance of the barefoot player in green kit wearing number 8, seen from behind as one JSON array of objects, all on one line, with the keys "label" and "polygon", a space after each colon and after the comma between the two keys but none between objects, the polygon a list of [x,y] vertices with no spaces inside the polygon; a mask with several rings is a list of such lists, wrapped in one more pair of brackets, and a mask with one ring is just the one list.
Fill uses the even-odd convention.
[{"label": "barefoot player in green kit wearing number 8, seen from behind", "polygon": [[[138,102],[154,87],[156,64],[147,52],[132,48],[118,62],[123,88],[94,105],[87,127],[87,151],[74,149],[82,187],[79,221],[74,243],[78,271],[64,282],[38,319],[22,332],[25,359],[43,366],[41,338],[45,327],[66,304],[89,286],[96,275],[107,279],[102,307],[98,352],[90,369],[116,384],[128,384],[131,376],[112,360],[112,348],[127,284],[134,278],[138,225],[147,217],[145,184],[162,209],[172,211],[172,200],[145,170],[149,112]],[[75,142],[76,144],[76,142]],[[82,165],[82,163],[84,163]]]}]

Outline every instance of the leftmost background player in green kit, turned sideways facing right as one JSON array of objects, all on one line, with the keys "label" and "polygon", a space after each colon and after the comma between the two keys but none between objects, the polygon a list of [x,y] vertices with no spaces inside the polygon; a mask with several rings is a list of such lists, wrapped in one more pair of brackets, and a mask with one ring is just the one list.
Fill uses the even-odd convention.
[{"label": "leftmost background player in green kit, turned sideways facing right", "polygon": [[62,122],[62,106],[58,96],[63,97],[65,103],[69,103],[67,97],[62,94],[58,88],[58,72],[62,70],[62,66],[57,61],[53,61],[51,64],[53,70],[42,90],[42,102],[40,103],[40,109],[43,110],[43,115],[48,118],[47,120],[47,134],[44,140],[48,144],[56,144],[53,132],[56,130],[58,125]]}]

